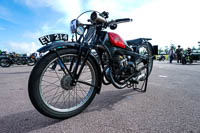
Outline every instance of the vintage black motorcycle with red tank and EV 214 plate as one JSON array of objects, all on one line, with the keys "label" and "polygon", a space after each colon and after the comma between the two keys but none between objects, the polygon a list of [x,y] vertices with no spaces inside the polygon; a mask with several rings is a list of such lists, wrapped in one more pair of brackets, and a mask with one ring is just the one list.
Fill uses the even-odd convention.
[{"label": "vintage black motorcycle with red tank and EV 214 plate", "polygon": [[[89,24],[80,16],[92,12]],[[43,115],[65,119],[81,113],[104,85],[145,92],[153,67],[153,47],[146,38],[124,41],[106,32],[129,18],[107,21],[108,12],[86,11],[70,23],[74,35],[51,34],[39,38],[46,53],[34,66],[29,97]]]}]

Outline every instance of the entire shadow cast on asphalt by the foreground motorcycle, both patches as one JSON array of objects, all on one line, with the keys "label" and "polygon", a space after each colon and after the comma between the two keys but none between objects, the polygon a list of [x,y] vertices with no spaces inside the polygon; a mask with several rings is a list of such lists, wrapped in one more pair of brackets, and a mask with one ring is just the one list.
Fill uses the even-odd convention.
[{"label": "entire shadow cast on asphalt by the foreground motorcycle, both patches", "polygon": [[[94,102],[89,105],[84,113],[101,111],[103,109],[114,110],[113,106],[115,104],[135,94],[141,94],[141,92],[133,91],[133,89],[104,91],[99,97],[95,97]],[[36,110],[20,112],[0,117],[0,133],[27,133],[58,122],[60,120],[43,117]]]}]

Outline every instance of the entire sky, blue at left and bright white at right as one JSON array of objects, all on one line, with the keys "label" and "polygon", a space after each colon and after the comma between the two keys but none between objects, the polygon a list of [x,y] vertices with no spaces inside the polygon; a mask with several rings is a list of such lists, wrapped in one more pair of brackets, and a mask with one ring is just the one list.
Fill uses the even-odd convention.
[{"label": "entire sky, blue at left and bright white at right", "polygon": [[19,53],[36,51],[38,37],[69,33],[69,21],[94,9],[110,12],[111,18],[133,18],[115,31],[125,39],[153,38],[164,47],[198,46],[198,0],[1,0],[0,49]]}]

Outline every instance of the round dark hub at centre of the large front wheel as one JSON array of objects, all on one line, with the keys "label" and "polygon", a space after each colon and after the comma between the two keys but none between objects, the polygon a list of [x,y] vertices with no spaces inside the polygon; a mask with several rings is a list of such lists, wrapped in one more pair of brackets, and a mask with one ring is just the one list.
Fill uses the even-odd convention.
[{"label": "round dark hub at centre of the large front wheel", "polygon": [[65,90],[72,90],[74,85],[72,85],[72,78],[70,75],[65,75],[60,81],[61,87]]}]

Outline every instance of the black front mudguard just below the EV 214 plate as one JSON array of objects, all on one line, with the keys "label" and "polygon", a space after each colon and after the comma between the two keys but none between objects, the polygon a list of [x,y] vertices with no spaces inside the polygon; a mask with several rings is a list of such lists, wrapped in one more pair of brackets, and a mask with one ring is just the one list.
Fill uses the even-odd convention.
[{"label": "black front mudguard just below the EV 214 plate", "polygon": [[78,47],[79,44],[75,42],[52,42],[51,44],[45,45],[37,50],[39,53],[45,53],[47,51],[59,48],[73,48]]}]

